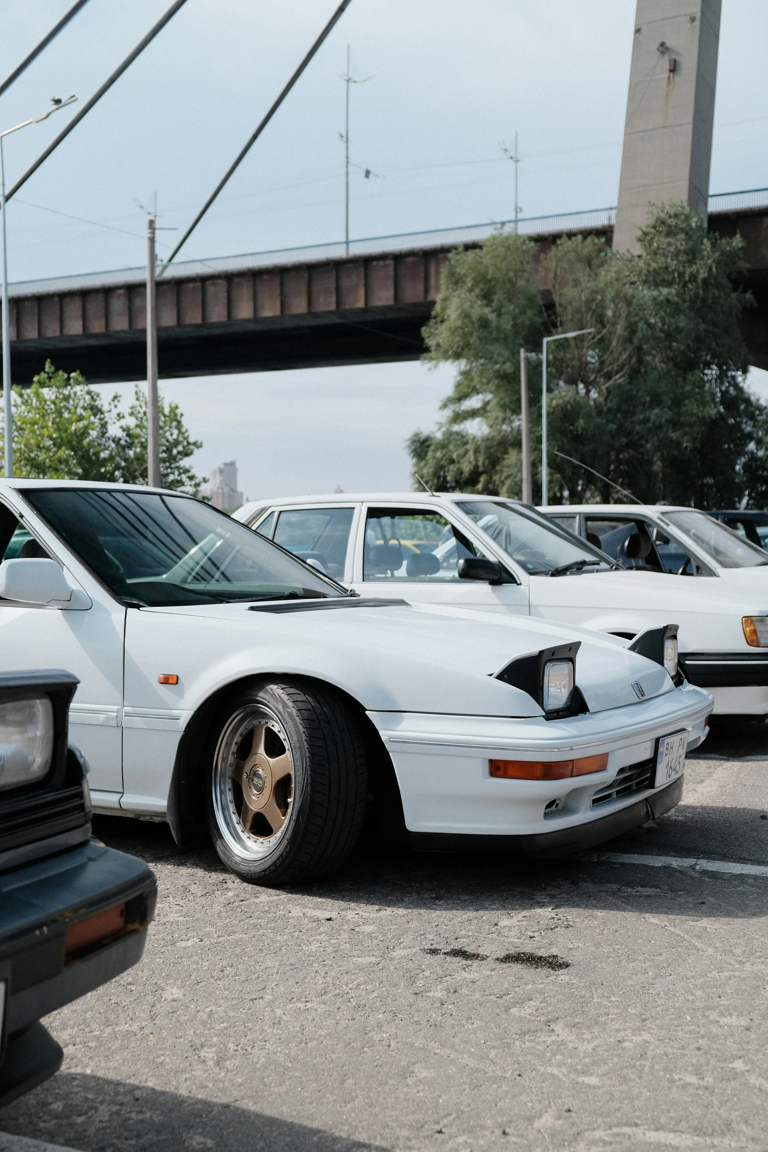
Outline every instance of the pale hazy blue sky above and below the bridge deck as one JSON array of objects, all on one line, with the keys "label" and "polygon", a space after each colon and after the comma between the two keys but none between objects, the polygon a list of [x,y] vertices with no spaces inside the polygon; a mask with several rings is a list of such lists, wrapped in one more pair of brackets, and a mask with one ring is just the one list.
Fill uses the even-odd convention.
[{"label": "pale hazy blue sky above and below the bridge deck", "polygon": [[[69,3],[2,0],[0,77]],[[0,126],[41,111],[51,96],[88,99],[168,3],[90,0],[0,98]],[[10,279],[140,264],[138,205],[154,192],[160,223],[184,229],[334,7],[188,0],[9,205]],[[185,255],[343,235],[348,43],[352,75],[372,77],[351,92],[352,236],[508,219],[512,165],[500,141],[511,143],[516,130],[525,215],[615,204],[634,8],[352,0]],[[723,0],[713,192],[768,184],[766,43],[768,3]],[[69,115],[6,141],[9,182]],[[447,371],[397,364],[198,378],[162,391],[205,442],[198,470],[235,457],[257,497],[408,486],[403,441],[434,424],[449,387]]]}]

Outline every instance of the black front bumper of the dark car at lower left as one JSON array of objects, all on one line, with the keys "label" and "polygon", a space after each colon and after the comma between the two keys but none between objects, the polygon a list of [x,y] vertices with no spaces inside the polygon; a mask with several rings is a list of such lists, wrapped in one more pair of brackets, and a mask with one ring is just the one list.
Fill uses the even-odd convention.
[{"label": "black front bumper of the dark car at lower left", "polygon": [[[40,1016],[140,960],[157,893],[144,861],[96,840],[0,876],[0,978],[7,983],[0,1107],[61,1062]],[[124,915],[116,931],[73,946],[71,930],[119,905]]]}]

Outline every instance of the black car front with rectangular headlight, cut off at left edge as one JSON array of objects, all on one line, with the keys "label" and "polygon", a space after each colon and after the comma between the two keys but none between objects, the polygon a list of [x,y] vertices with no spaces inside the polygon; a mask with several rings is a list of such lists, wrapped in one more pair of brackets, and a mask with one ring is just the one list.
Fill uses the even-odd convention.
[{"label": "black car front with rectangular headlight, cut off at left edge", "polygon": [[0,675],[0,1107],[61,1067],[40,1023],[142,956],[157,899],[143,861],[91,839],[66,672]]}]

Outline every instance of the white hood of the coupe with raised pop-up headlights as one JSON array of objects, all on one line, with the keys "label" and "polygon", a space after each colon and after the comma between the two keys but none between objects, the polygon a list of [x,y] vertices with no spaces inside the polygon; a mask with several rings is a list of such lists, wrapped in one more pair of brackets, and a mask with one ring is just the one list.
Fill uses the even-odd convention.
[{"label": "white hood of the coupe with raised pop-up headlights", "polygon": [[581,641],[576,682],[591,712],[634,704],[674,687],[663,667],[629,652],[614,637],[454,606],[352,604],[274,612],[228,604],[140,609],[144,617],[155,613],[182,628],[184,620],[195,619],[195,634],[211,658],[215,660],[214,647],[221,653],[222,682],[231,679],[228,669],[235,666],[241,674],[318,676],[370,711],[541,715],[526,692],[493,677],[516,657],[575,639]]}]

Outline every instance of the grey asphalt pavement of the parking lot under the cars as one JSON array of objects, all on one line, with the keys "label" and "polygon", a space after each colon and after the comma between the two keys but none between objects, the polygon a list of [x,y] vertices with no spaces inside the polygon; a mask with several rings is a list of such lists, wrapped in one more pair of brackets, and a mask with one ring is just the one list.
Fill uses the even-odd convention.
[{"label": "grey asphalt pavement of the parking lot under the cars", "polygon": [[273,890],[94,831],[155,869],[157,919],[46,1020],[63,1069],[2,1152],[768,1149],[768,725],[714,728],[683,803],[587,859],[360,851]]}]

